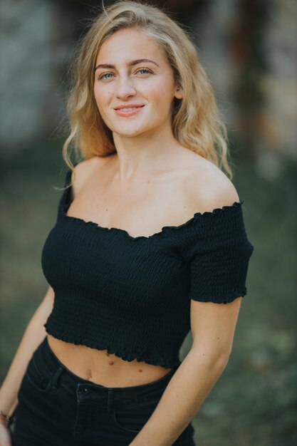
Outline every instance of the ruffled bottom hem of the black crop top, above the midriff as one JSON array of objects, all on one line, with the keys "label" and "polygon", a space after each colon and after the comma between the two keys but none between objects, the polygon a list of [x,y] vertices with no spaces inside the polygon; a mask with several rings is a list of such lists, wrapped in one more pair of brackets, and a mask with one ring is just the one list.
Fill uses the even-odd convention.
[{"label": "ruffled bottom hem of the black crop top, above the midriff", "polygon": [[65,333],[58,333],[54,330],[48,329],[46,323],[43,326],[46,328],[46,333],[48,333],[49,335],[53,336],[56,339],[73,343],[75,344],[75,346],[86,346],[90,348],[95,348],[96,350],[106,350],[108,353],[110,353],[110,355],[118,356],[118,358],[121,358],[124,361],[131,362],[135,361],[136,359],[138,362],[144,362],[151,365],[160,365],[160,367],[164,368],[178,367],[181,363],[179,359],[177,361],[170,361],[164,358],[160,359],[147,358],[145,356],[142,356],[141,353],[133,355],[131,353],[128,353],[127,351],[119,351],[117,348],[113,348],[112,346],[108,345],[108,343],[90,341],[89,339],[80,338],[79,336],[75,336],[75,339],[71,338],[71,336],[68,336]]}]

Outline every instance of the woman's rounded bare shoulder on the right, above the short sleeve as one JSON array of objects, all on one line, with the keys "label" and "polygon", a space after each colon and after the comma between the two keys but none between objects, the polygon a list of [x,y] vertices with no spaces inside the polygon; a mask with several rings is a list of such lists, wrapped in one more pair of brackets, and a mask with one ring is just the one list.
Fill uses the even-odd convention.
[{"label": "woman's rounded bare shoulder on the right, above the short sleeve", "polygon": [[239,202],[239,195],[231,180],[219,167],[202,157],[192,164],[185,187],[189,205],[198,209],[198,212],[212,212],[218,207]]}]

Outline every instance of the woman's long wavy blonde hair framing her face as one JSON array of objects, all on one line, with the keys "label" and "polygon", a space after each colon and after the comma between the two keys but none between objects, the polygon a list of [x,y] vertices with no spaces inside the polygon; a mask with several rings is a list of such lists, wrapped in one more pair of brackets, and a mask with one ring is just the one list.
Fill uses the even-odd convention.
[{"label": "woman's long wavy blonde hair framing her face", "polygon": [[103,6],[103,11],[90,21],[89,27],[75,47],[69,72],[72,82],[67,118],[71,131],[63,145],[63,158],[68,167],[75,172],[68,156],[72,147],[75,155],[83,155],[85,159],[116,152],[112,132],[103,122],[95,103],[95,61],[101,46],[113,33],[124,28],[137,28],[154,38],[165,51],[174,80],[182,87],[182,100],[174,98],[174,138],[183,147],[224,169],[232,179],[227,160],[226,126],[219,118],[212,85],[187,31],[161,9],[137,1],[117,1],[106,9]]}]

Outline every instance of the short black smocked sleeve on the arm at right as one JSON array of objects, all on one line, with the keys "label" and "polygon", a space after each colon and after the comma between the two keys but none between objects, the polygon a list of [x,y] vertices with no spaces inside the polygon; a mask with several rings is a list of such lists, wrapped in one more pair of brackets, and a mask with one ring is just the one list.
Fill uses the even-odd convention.
[{"label": "short black smocked sleeve on the arm at right", "polygon": [[195,215],[187,244],[189,299],[227,304],[245,296],[246,275],[254,246],[249,242],[241,205]]}]

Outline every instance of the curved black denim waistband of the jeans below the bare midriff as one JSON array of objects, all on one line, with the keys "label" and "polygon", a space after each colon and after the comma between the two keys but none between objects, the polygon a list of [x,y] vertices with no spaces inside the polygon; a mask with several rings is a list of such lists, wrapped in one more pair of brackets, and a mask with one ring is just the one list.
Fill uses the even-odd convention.
[{"label": "curved black denim waistband of the jeans below the bare midriff", "polygon": [[[167,384],[169,383],[172,375],[174,375],[178,366],[172,368],[169,373],[162,376],[162,378],[152,381],[150,383],[145,383],[141,385],[132,385],[127,387],[105,387],[104,385],[93,383],[90,380],[85,380],[80,378],[80,376],[75,375],[75,373],[71,372],[66,365],[63,365],[61,361],[56,357],[56,355],[51,350],[51,347],[48,344],[48,337],[46,336],[44,340],[41,342],[39,347],[35,353],[41,355],[41,361],[46,364],[46,368],[48,372],[54,375],[55,383],[53,384],[55,387],[58,383],[63,383],[64,387],[67,387],[69,390],[77,391],[78,393],[95,393],[97,395],[109,395],[110,390],[113,390],[113,398],[115,402],[125,400],[125,403],[129,403],[129,401],[133,401],[134,397],[138,400],[146,400],[148,398],[153,398],[154,396],[158,398],[158,395],[162,395],[162,392],[165,390]],[[85,390],[86,389],[86,390]]]}]

